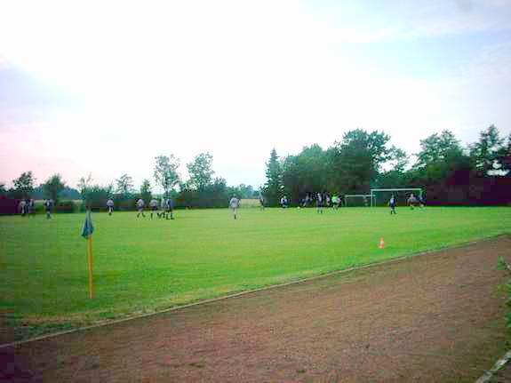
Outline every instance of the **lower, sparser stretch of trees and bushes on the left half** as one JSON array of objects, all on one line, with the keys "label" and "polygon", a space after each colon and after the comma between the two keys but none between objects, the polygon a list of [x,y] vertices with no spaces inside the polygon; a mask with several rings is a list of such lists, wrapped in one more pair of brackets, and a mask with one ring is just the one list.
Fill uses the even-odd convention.
[{"label": "lower, sparser stretch of trees and bushes on the left half", "polygon": [[[53,174],[48,180],[35,186],[33,172],[23,172],[12,180],[13,188],[7,189],[0,183],[0,195],[9,198],[51,198],[57,205],[60,200],[83,199],[92,208],[103,208],[108,198],[114,198],[117,208],[133,209],[139,198],[147,203],[155,196],[172,197],[178,206],[189,207],[225,207],[231,195],[241,198],[254,198],[259,192],[251,185],[240,184],[229,187],[227,180],[215,177],[212,170],[213,157],[210,153],[200,153],[187,164],[188,180],[181,180],[178,168],[180,159],[176,156],[156,156],[154,184],[145,179],[139,190],[134,188],[132,177],[124,173],[108,185],[94,183],[92,175],[82,177],[76,188],[69,188],[60,174]],[[163,195],[153,193],[153,185],[164,190]],[[66,203],[68,206],[69,203]]]}]

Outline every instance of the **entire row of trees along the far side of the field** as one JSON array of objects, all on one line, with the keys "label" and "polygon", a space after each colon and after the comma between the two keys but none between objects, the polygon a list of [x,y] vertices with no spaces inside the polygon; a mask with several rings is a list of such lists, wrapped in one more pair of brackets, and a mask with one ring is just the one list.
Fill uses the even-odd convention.
[{"label": "entire row of trees along the far side of the field", "polygon": [[264,195],[267,205],[275,206],[283,195],[291,203],[307,193],[366,194],[371,188],[424,188],[429,204],[504,204],[511,203],[511,134],[500,136],[491,125],[479,139],[462,146],[450,131],[420,140],[419,153],[411,156],[389,145],[384,132],[356,129],[342,140],[323,149],[314,144],[297,155],[279,158],[275,149],[266,164],[265,185],[255,190],[241,184],[228,187],[212,171],[212,155],[200,153],[187,164],[189,179],[181,180],[180,159],[156,156],[154,184],[143,180],[135,190],[127,173],[107,186],[93,183],[91,175],[80,179],[77,190],[70,188],[60,174],[52,175],[38,187],[33,172],[23,172],[13,180],[13,188],[0,183],[0,195],[20,199],[32,197],[59,199],[82,198],[92,206],[104,207],[114,197],[120,208],[132,209],[137,199],[150,200],[153,185],[164,190],[178,206],[225,207],[231,195],[256,198]]}]

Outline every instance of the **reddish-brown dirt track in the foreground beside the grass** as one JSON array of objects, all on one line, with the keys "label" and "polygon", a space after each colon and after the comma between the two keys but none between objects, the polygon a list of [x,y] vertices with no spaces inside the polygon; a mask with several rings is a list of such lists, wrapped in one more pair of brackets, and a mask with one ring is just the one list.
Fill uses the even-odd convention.
[{"label": "reddish-brown dirt track in the foreground beside the grass", "polygon": [[503,350],[499,256],[511,238],[2,348],[0,380],[474,381]]}]

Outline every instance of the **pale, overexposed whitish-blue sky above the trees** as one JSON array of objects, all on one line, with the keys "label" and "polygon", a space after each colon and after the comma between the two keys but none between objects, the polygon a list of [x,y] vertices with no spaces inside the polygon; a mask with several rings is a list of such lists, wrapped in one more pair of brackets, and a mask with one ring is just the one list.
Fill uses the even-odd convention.
[{"label": "pale, overexposed whitish-blue sky above the trees", "polygon": [[229,185],[270,150],[379,130],[407,153],[511,132],[511,0],[0,0],[0,181],[154,185],[200,152]]}]

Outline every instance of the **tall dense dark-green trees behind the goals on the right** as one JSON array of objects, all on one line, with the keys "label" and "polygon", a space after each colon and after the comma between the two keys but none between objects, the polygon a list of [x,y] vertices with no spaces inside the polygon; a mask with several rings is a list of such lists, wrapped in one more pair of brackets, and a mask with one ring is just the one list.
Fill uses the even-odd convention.
[{"label": "tall dense dark-green trees behind the goals on the right", "polygon": [[411,156],[389,145],[384,132],[356,129],[323,149],[314,144],[279,158],[271,151],[263,193],[269,205],[286,195],[299,203],[307,193],[366,194],[371,188],[424,188],[432,204],[511,203],[511,134],[491,125],[462,146],[450,131],[420,140]]}]

